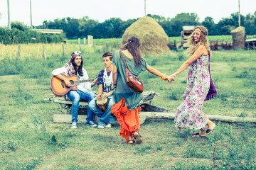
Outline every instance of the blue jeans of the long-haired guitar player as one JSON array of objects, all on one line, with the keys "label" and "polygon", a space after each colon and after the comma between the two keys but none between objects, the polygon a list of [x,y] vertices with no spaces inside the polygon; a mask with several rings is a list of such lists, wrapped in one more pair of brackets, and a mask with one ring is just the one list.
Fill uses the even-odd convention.
[{"label": "blue jeans of the long-haired guitar player", "polygon": [[[79,101],[80,99],[88,101],[92,101],[92,98],[95,98],[95,94],[92,93],[92,91],[86,90],[86,91],[70,91],[67,94],[68,98],[70,98],[72,102],[72,122],[78,122],[78,108],[79,108]],[[87,123],[92,120],[92,111],[90,108],[87,108]]]}]

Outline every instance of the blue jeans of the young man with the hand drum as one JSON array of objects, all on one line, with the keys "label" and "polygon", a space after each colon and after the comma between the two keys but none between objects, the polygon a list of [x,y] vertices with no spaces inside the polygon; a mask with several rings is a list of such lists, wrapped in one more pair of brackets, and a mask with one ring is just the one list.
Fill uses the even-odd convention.
[{"label": "blue jeans of the young man with the hand drum", "polygon": [[97,107],[96,98],[93,98],[92,101],[89,103],[89,108],[92,110],[95,115],[97,115],[100,120],[98,125],[105,127],[109,123],[114,123],[114,118],[111,115],[111,108],[113,106],[113,99],[112,96],[108,96],[107,98],[110,99],[110,102],[107,105],[107,109],[105,112],[102,112],[100,108]]}]

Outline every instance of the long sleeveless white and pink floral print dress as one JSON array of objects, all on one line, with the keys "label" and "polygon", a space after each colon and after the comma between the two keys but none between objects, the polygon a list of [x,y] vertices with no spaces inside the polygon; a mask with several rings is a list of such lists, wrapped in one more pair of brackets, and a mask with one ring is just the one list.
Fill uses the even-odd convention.
[{"label": "long sleeveless white and pink floral print dress", "polygon": [[177,128],[206,129],[209,119],[203,113],[203,102],[210,89],[209,56],[202,55],[188,67],[188,81],[184,101],[176,110]]}]

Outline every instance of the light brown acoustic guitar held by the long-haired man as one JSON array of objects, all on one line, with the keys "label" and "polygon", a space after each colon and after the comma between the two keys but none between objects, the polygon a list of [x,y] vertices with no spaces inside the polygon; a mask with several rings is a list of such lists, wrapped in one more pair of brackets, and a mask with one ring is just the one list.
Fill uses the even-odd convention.
[{"label": "light brown acoustic guitar held by the long-haired man", "polygon": [[53,78],[50,80],[50,87],[53,94],[58,97],[65,96],[70,90],[78,90],[78,87],[76,86],[77,84],[95,81],[95,79],[79,80],[76,75],[72,75],[70,77],[67,77],[64,74],[61,75],[68,79],[72,86],[66,86],[63,80],[53,76]]}]

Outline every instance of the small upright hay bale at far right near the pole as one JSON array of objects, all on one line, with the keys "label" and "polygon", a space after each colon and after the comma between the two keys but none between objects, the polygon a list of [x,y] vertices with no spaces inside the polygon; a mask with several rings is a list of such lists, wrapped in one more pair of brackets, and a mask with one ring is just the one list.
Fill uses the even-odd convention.
[{"label": "small upright hay bale at far right near the pole", "polygon": [[238,27],[231,31],[233,39],[233,49],[244,49],[245,50],[245,28]]}]

